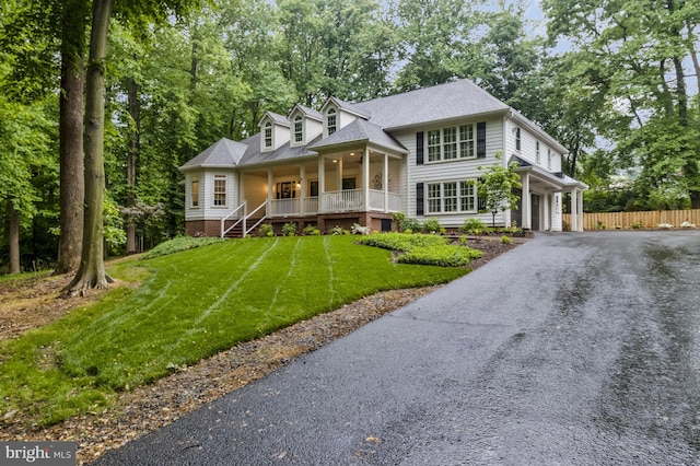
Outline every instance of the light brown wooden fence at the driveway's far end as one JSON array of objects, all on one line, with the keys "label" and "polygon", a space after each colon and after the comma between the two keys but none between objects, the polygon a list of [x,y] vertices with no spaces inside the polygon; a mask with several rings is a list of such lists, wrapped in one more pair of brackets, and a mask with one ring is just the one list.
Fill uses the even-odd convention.
[{"label": "light brown wooden fence at the driveway's far end", "polygon": [[[562,215],[564,230],[571,225],[571,214]],[[700,209],[693,210],[653,210],[646,212],[602,212],[584,213],[584,230],[630,230],[656,229],[660,223],[667,223],[675,229],[682,222],[690,222],[700,226]]]}]

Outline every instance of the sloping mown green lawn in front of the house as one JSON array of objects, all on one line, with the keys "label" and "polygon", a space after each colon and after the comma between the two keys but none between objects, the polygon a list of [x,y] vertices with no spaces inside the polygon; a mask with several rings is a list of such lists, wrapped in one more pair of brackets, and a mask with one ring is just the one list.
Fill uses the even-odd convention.
[{"label": "sloping mown green lawn in front of the house", "polygon": [[0,415],[51,423],[98,409],[237,342],[376,291],[454,280],[466,268],[393,264],[357,236],[246,238],[109,267],[138,288],[0,345]]}]

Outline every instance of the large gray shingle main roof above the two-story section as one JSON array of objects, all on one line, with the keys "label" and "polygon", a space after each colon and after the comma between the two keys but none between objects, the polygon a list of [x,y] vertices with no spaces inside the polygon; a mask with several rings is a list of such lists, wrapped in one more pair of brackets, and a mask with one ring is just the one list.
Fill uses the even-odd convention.
[{"label": "large gray shingle main roof above the two-story section", "polygon": [[511,108],[466,79],[360,102],[352,107],[370,114],[370,121],[385,130]]}]

